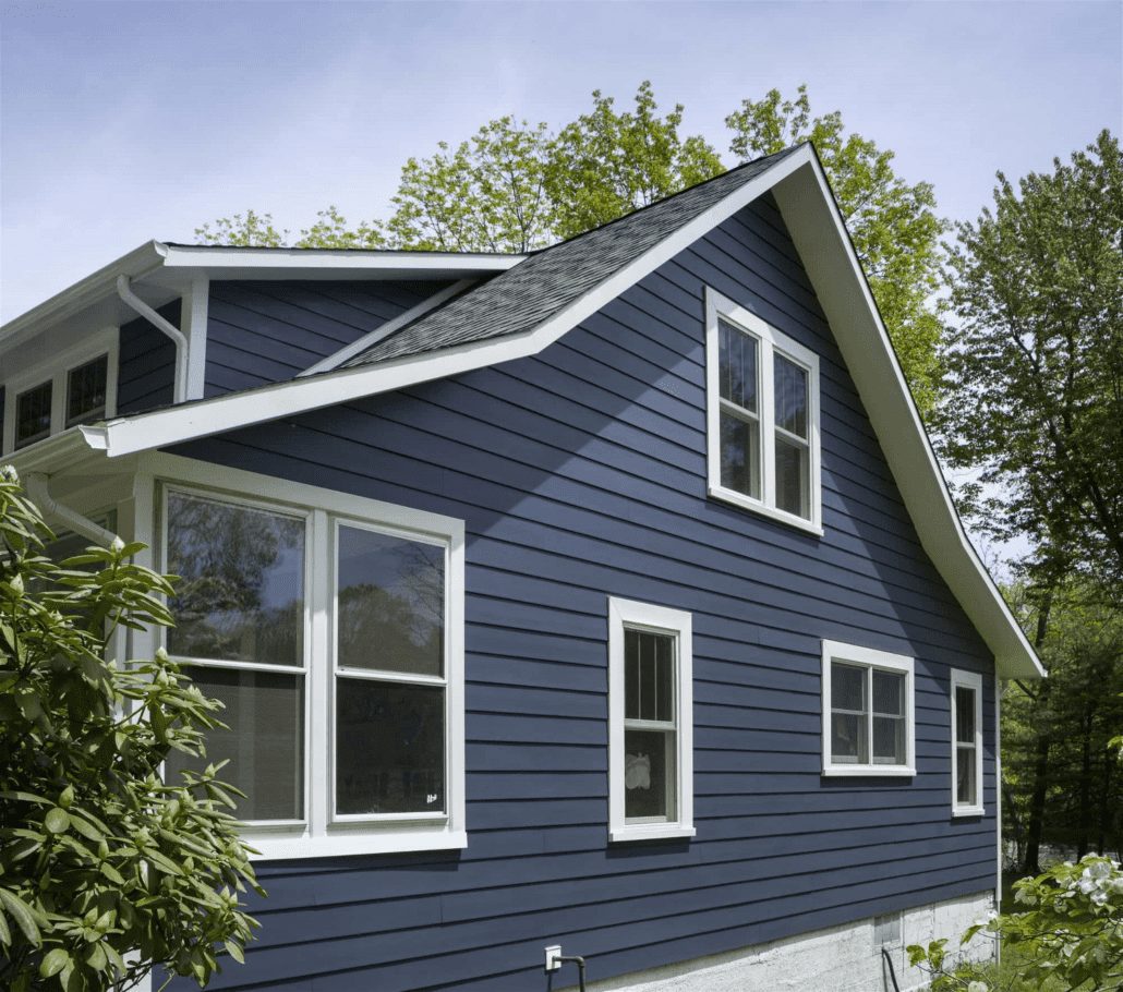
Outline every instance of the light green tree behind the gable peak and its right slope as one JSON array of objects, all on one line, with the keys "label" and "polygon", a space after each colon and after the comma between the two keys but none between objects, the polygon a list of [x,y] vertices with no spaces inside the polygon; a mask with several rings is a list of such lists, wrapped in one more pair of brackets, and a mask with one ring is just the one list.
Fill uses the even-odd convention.
[{"label": "light green tree behind the gable peak and its right slope", "polygon": [[742,100],[725,124],[733,133],[730,151],[742,161],[814,143],[913,398],[921,413],[930,413],[941,389],[943,328],[934,294],[947,227],[931,184],[905,182],[893,169],[894,153],[847,131],[839,111],[812,117],[805,85],[795,100],[779,90]]}]

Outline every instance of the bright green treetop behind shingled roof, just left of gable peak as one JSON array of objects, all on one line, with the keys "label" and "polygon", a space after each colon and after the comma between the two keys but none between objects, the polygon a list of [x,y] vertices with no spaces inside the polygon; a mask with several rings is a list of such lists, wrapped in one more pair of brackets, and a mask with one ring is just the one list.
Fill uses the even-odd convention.
[{"label": "bright green treetop behind shingled roof, just left of gable peak", "polygon": [[681,137],[683,104],[665,117],[651,83],[636,92],[634,110],[615,110],[593,91],[593,110],[562,128],[550,145],[546,185],[562,238],[615,220],[722,172],[701,136]]}]

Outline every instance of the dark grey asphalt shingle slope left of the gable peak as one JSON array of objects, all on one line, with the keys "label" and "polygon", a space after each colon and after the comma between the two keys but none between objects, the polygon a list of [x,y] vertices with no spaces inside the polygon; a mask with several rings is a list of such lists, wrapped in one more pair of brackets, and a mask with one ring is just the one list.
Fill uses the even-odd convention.
[{"label": "dark grey asphalt shingle slope left of the gable peak", "polygon": [[544,248],[345,363],[372,365],[531,330],[793,149],[748,162],[650,207]]}]

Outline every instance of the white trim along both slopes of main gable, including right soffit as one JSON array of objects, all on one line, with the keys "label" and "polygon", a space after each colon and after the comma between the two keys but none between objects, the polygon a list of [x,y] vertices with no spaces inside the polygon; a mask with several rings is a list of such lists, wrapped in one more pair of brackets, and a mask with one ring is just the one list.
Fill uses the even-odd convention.
[{"label": "white trim along both slopes of main gable, including right soffit", "polygon": [[101,440],[94,443],[104,447],[110,457],[118,457],[535,355],[766,192],[776,198],[924,550],[994,653],[1002,674],[1042,677],[1044,668],[956,513],[838,206],[810,145],[795,149],[734,190],[532,330],[111,421]]}]

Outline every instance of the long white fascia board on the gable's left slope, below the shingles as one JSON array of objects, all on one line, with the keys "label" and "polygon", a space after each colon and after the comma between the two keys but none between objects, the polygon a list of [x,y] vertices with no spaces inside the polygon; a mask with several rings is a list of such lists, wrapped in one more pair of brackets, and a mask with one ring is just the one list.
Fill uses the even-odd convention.
[{"label": "long white fascia board on the gable's left slope, below the shingles", "polygon": [[776,182],[807,165],[812,158],[810,145],[793,152],[532,330],[377,365],[339,368],[323,375],[309,375],[248,392],[111,421],[107,426],[109,456],[117,457],[179,444],[536,355],[706,231],[767,192]]}]

